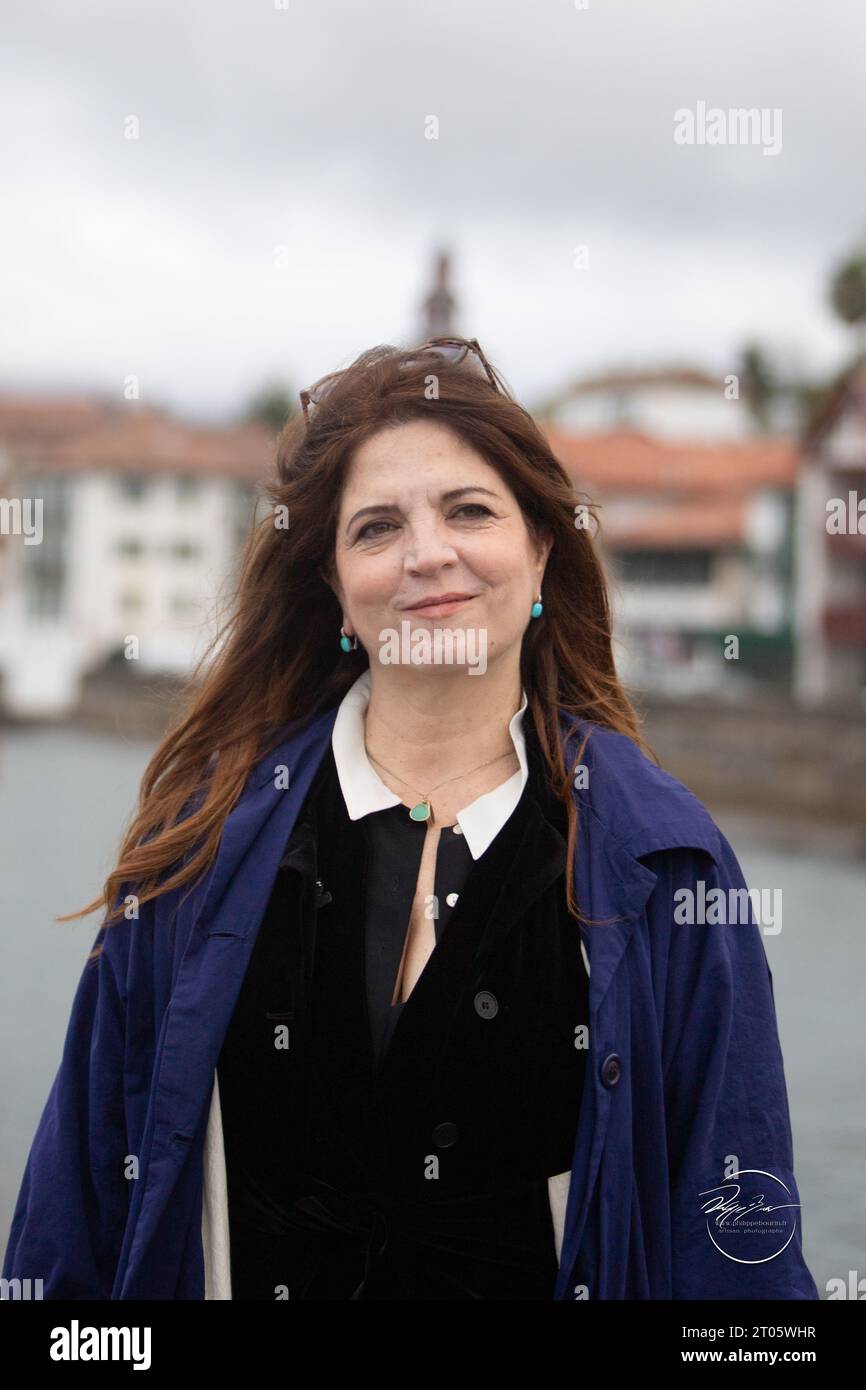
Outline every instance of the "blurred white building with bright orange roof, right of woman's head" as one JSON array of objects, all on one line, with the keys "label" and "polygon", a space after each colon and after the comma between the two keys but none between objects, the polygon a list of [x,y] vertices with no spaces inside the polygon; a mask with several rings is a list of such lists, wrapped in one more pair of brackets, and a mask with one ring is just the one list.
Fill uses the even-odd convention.
[{"label": "blurred white building with bright orange roof, right of woman's head", "polygon": [[546,434],[599,507],[621,677],[669,696],[787,684],[794,445]]}]

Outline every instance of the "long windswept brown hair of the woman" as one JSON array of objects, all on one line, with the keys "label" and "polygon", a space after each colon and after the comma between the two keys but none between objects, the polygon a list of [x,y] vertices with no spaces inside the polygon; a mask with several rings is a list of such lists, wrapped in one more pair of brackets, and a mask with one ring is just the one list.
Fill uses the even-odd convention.
[{"label": "long windswept brown hair of the woman", "polygon": [[[569,817],[566,897],[574,890],[577,809],[566,766],[559,710],[626,734],[649,756],[638,716],[620,684],[610,635],[607,584],[594,545],[598,513],[580,500],[532,417],[495,368],[499,389],[467,356],[406,361],[403,349],[363,352],[311,413],[291,418],[277,443],[275,470],[263,486],[268,509],[243,550],[229,614],[202,655],[181,712],[145,770],[138,809],[103,895],[70,922],[104,908],[120,920],[122,885],[138,903],[189,883],[215,859],[225,819],[254,764],[285,737],[288,724],[332,709],[370,664],[343,653],[342,612],[325,574],[334,574],[336,518],[353,452],[382,428],[435,420],[498,470],[535,537],[552,538],[544,575],[544,616],[523,639],[521,678],[538,731],[549,785]],[[288,520],[288,525],[285,521]],[[591,731],[589,731],[591,733]],[[93,954],[99,954],[99,949]]]}]

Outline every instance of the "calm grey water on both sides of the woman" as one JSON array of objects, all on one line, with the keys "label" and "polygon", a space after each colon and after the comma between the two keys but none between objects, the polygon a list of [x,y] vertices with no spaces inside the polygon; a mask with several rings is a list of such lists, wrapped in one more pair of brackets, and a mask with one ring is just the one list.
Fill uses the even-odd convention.
[{"label": "calm grey water on both sides of the woman", "polygon": [[[57,1070],[100,915],[56,923],[101,888],[156,745],[65,728],[6,730],[0,755],[0,1247]],[[713,809],[713,808],[710,808]],[[783,890],[765,935],[785,1059],[803,1247],[819,1291],[866,1276],[866,866],[816,833],[780,848],[771,827],[716,812],[753,887]],[[820,848],[819,848],[820,845]]]}]

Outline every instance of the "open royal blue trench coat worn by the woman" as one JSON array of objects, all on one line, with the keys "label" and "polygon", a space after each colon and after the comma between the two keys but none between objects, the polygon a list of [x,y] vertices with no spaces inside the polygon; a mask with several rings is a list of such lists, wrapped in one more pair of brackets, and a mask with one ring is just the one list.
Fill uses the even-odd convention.
[{"label": "open royal blue trench coat worn by the woman", "polygon": [[[145,903],[138,920],[100,927],[104,949],[78,984],[4,1277],[42,1279],[44,1298],[231,1297],[225,1222],[214,1236],[206,1180],[214,1069],[335,716],[295,726],[261,759],[192,891],[185,884]],[[735,1155],[799,1204],[760,929],[753,917],[674,919],[678,888],[744,888],[740,865],[703,805],[631,739],[564,712],[560,723],[571,764],[592,730],[588,785],[574,790],[581,908],[619,920],[580,927],[589,1051],[560,1188],[553,1298],[817,1298],[798,1208],[783,1252],[740,1264],[710,1240],[698,1197]]]}]

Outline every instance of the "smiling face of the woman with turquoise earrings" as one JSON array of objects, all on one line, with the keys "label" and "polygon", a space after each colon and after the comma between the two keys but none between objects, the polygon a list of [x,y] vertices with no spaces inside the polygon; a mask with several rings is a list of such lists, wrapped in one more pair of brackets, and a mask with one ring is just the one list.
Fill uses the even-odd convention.
[{"label": "smiling face of the woman with turquoise earrings", "polygon": [[[334,591],[370,664],[393,663],[389,632],[436,628],[484,642],[487,663],[520,653],[550,542],[537,546],[506,482],[445,425],[381,430],[354,453],[336,524]],[[459,595],[439,606],[421,600]],[[473,631],[474,630],[474,631]],[[336,639],[336,634],[335,634]],[[391,655],[388,655],[391,653]]]}]

